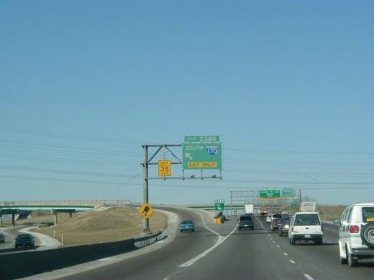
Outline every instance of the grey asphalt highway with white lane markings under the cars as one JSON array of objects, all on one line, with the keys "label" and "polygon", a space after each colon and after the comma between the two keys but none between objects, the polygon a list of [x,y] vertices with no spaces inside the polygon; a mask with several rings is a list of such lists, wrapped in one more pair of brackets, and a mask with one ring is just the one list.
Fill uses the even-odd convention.
[{"label": "grey asphalt highway with white lane markings under the cars", "polygon": [[197,211],[178,210],[181,219],[196,223],[195,232],[177,233],[175,240],[145,255],[61,279],[373,279],[374,262],[340,265],[338,227],[324,225],[323,245],[298,243],[271,232],[263,218],[255,230],[236,229],[236,217],[215,225]]}]

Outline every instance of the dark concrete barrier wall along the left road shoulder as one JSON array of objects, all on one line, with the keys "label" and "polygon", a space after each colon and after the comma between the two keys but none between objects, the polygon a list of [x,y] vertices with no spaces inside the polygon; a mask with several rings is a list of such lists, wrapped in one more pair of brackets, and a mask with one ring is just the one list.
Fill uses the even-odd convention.
[{"label": "dark concrete barrier wall along the left road shoulder", "polygon": [[[154,237],[153,237],[154,238]],[[0,254],[0,279],[10,280],[118,255],[136,249],[134,239],[45,251]]]}]

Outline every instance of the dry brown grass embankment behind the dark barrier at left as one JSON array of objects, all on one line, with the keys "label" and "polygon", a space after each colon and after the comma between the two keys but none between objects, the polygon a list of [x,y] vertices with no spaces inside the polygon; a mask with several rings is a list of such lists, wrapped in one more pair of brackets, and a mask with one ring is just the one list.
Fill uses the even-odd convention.
[{"label": "dry brown grass embankment behind the dark barrier at left", "polygon": [[[37,219],[37,221],[36,221]],[[27,219],[28,223],[47,223],[53,221],[51,214],[44,216],[32,215]],[[165,230],[167,217],[155,211],[149,218],[149,227],[152,232]],[[142,217],[135,208],[111,207],[93,211],[73,214],[69,218],[67,214],[58,214],[58,225],[48,228],[35,228],[32,231],[50,235],[61,241],[64,236],[64,244],[93,244],[100,242],[119,241],[142,234]]]}]

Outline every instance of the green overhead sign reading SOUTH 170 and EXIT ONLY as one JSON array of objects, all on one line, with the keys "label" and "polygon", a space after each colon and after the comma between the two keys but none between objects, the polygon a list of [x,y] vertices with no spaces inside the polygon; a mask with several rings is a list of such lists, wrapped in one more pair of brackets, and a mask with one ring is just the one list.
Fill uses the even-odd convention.
[{"label": "green overhead sign reading SOUTH 170 and EXIT ONLY", "polygon": [[221,169],[222,144],[183,143],[183,169]]}]

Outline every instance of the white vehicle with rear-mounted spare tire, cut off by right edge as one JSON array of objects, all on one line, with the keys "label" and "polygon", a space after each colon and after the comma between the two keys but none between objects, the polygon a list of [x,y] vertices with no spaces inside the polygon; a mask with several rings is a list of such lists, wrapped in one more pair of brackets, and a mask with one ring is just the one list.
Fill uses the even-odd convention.
[{"label": "white vehicle with rear-mounted spare tire, cut off by right edge", "polygon": [[340,225],[340,263],[354,267],[360,258],[374,258],[374,202],[347,207],[334,223]]}]

